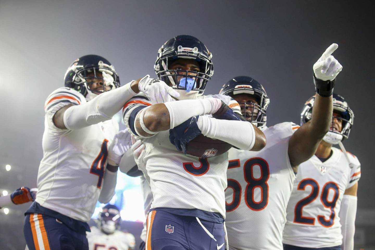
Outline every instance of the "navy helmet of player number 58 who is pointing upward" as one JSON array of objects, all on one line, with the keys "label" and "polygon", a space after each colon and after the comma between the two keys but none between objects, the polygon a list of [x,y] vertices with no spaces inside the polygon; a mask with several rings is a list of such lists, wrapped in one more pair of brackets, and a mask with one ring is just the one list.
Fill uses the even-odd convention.
[{"label": "navy helmet of player number 58 who is pointing upward", "polygon": [[[239,103],[241,106],[242,115],[247,121],[250,121],[258,128],[262,129],[266,126],[267,115],[266,111],[270,104],[270,99],[267,96],[266,90],[263,86],[249,76],[236,76],[228,81],[220,90],[219,94],[225,94],[234,98],[236,94],[249,94],[254,97],[257,103]],[[248,108],[252,109],[251,114],[246,114]],[[255,111],[257,110],[257,111]],[[249,116],[251,118],[249,118]]]}]

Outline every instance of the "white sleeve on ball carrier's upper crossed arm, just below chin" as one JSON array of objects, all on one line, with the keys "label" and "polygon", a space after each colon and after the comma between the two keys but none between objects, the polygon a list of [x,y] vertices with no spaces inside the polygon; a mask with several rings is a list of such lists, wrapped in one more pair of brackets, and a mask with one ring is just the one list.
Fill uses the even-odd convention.
[{"label": "white sleeve on ball carrier's upper crossed arm, just below chin", "polygon": [[221,100],[210,97],[205,99],[166,102],[164,105],[169,111],[169,119],[171,121],[170,129],[173,129],[190,117],[214,114],[220,108]]}]

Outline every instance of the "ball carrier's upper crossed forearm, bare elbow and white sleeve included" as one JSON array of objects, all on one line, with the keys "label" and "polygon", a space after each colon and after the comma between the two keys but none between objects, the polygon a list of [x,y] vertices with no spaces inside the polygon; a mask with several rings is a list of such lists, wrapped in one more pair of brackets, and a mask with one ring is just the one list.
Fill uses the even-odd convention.
[{"label": "ball carrier's upper crossed forearm, bare elbow and white sleeve included", "polygon": [[[144,136],[159,131],[173,129],[190,117],[215,113],[221,106],[217,98],[179,100],[154,104],[144,111],[140,111],[135,119],[135,126],[139,134]],[[143,112],[143,113],[142,113]]]}]

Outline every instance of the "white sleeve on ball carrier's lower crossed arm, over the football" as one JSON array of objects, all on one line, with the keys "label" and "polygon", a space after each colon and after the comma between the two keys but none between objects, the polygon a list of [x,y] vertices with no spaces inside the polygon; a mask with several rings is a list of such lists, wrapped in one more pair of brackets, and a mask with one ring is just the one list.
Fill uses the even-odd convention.
[{"label": "white sleeve on ball carrier's lower crossed arm, over the football", "polygon": [[243,150],[251,150],[255,144],[255,129],[248,121],[219,120],[201,115],[198,118],[198,127],[202,135]]}]

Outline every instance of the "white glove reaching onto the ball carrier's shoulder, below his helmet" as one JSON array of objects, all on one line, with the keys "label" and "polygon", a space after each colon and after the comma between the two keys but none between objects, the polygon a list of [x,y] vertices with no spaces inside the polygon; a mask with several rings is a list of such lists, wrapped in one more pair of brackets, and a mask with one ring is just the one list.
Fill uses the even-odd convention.
[{"label": "white glove reaching onto the ball carrier's shoulder, below his helmet", "polygon": [[171,102],[173,100],[171,96],[176,98],[180,96],[165,82],[150,78],[150,75],[146,75],[139,81],[138,88],[151,99],[151,104]]}]

